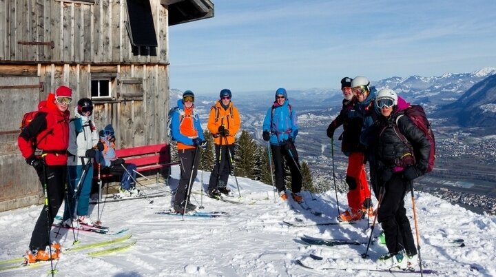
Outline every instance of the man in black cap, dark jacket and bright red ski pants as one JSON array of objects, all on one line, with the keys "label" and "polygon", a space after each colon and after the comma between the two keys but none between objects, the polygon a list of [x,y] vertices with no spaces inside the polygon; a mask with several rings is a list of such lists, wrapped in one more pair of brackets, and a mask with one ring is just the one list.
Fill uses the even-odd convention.
[{"label": "man in black cap, dark jacket and bright red ski pants", "polygon": [[353,112],[356,101],[351,92],[351,81],[349,77],[341,80],[341,90],[344,96],[342,110],[327,127],[327,136],[332,139],[334,131],[343,125],[343,133],[339,140],[342,141],[342,152],[348,156],[346,183],[349,186],[347,194],[349,209],[338,216],[338,220],[342,221],[360,220],[365,215],[373,214],[369,183],[366,180],[364,167],[365,147],[360,143],[362,119],[348,116]]}]

